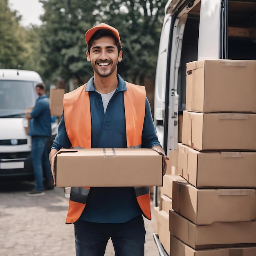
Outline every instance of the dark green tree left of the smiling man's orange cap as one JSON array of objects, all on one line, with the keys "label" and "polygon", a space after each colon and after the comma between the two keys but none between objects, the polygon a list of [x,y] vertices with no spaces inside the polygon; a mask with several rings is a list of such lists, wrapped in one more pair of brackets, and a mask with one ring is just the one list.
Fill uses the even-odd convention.
[{"label": "dark green tree left of the smiling man's orange cap", "polygon": [[45,9],[41,27],[44,75],[65,81],[77,79],[81,83],[93,74],[86,60],[84,34],[99,18],[93,13],[99,3],[88,0],[40,2]]}]

